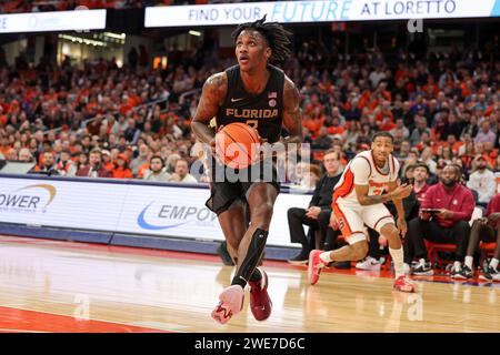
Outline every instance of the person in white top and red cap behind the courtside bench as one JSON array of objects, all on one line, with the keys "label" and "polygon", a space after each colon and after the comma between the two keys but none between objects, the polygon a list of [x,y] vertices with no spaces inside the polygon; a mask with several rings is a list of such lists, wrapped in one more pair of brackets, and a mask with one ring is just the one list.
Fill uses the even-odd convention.
[{"label": "person in white top and red cap behind the courtside bench", "polygon": [[467,187],[478,193],[478,204],[486,209],[497,191],[497,182],[484,155],[478,155],[474,161],[476,171],[470,174]]}]

